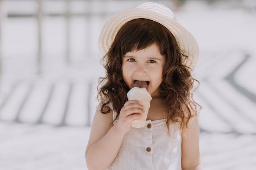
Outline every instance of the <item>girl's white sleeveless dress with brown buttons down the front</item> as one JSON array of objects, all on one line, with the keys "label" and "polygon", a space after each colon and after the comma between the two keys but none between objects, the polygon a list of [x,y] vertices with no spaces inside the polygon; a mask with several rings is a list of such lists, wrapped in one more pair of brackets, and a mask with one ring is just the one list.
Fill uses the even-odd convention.
[{"label": "girl's white sleeveless dress with brown buttons down the front", "polygon": [[181,170],[182,138],[178,123],[170,125],[170,133],[166,119],[147,120],[142,128],[131,127],[107,170]]}]

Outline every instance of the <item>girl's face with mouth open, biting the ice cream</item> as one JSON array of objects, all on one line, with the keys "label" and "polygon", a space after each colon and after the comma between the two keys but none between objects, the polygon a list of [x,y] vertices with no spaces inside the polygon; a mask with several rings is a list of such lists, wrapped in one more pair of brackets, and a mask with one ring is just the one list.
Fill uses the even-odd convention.
[{"label": "girl's face with mouth open, biting the ice cream", "polygon": [[162,83],[165,56],[161,55],[156,44],[139,51],[130,51],[124,55],[122,74],[129,88],[135,80],[147,81],[147,90],[152,96],[159,95]]}]

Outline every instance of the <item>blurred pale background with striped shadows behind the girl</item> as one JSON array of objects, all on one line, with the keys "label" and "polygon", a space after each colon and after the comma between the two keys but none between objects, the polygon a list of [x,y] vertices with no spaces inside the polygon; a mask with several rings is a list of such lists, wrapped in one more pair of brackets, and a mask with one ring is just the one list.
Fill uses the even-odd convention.
[{"label": "blurred pale background with striped shadows behind the girl", "polygon": [[[103,24],[145,0],[0,0],[0,169],[86,170]],[[204,170],[256,169],[256,0],[153,0],[198,40]]]}]

